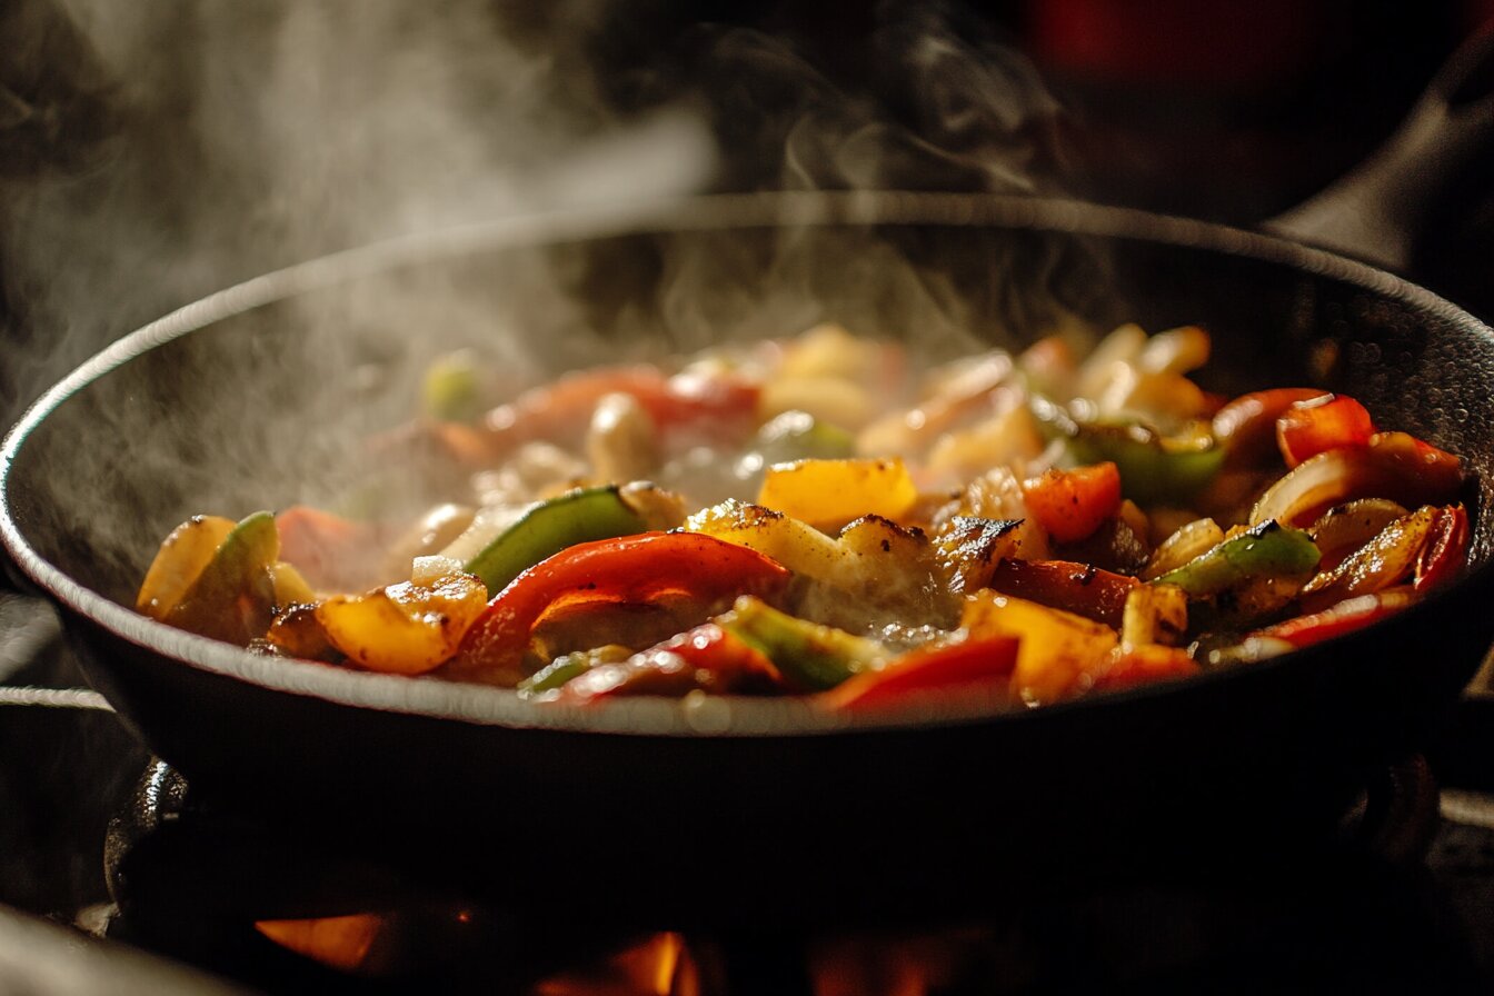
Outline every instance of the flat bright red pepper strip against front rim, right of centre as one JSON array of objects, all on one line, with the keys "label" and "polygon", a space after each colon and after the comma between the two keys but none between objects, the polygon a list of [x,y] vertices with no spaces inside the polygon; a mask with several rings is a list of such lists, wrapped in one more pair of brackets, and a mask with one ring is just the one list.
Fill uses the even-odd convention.
[{"label": "flat bright red pepper strip against front rim, right of centre", "polygon": [[914,650],[881,670],[865,670],[820,694],[831,709],[875,709],[919,693],[1005,694],[1017,663],[1016,636],[973,639],[932,650]]}]

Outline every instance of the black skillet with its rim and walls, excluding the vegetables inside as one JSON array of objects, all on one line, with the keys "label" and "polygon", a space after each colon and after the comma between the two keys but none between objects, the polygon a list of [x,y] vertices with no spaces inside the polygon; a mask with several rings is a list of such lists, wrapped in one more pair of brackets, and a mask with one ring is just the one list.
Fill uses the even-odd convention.
[{"label": "black skillet with its rim and walls, excluding the vegetables inside", "polygon": [[[1469,575],[1267,663],[875,724],[795,700],[536,706],[255,657],[121,605],[184,517],[345,490],[369,463],[351,441],[408,411],[405,360],[445,345],[502,360],[517,336],[554,372],[636,355],[639,329],[680,348],[825,317],[925,346],[1020,345],[1059,309],[1100,327],[1203,324],[1210,387],[1318,384],[1463,454]],[[887,193],[511,218],[281,270],[111,346],[7,438],[0,536],[121,717],[241,808],[457,891],[801,923],[1225,845],[1274,853],[1331,829],[1371,772],[1425,741],[1494,641],[1491,384],[1494,333],[1419,287],[1143,212]]]}]

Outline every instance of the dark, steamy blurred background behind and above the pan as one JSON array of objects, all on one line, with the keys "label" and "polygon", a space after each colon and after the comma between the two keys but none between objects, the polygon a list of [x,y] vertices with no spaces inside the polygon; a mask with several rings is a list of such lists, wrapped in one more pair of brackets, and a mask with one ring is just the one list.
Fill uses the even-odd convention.
[{"label": "dark, steamy blurred background behind and above the pan", "polygon": [[[102,343],[371,239],[763,188],[1252,225],[1395,127],[1494,0],[0,0],[0,421]],[[1494,312],[1494,194],[1416,276]]]}]

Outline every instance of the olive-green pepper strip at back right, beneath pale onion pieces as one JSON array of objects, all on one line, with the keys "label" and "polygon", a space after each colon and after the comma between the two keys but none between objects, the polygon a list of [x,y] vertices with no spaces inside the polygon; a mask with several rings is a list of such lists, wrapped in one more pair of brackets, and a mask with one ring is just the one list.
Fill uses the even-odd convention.
[{"label": "olive-green pepper strip at back right, beneath pale onion pieces", "polygon": [[1140,423],[1083,423],[1044,397],[1034,396],[1029,405],[1044,433],[1064,441],[1073,463],[1116,464],[1122,491],[1141,505],[1186,505],[1224,466],[1225,449],[1212,432],[1162,436]]}]

